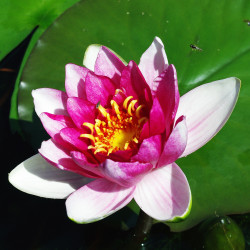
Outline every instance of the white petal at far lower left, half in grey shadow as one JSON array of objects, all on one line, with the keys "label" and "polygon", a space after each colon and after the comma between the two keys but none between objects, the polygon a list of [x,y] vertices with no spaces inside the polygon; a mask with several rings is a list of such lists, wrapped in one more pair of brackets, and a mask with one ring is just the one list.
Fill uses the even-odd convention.
[{"label": "white petal at far lower left, half in grey shadow", "polygon": [[64,199],[92,179],[55,168],[36,154],[13,169],[9,181],[28,194]]}]

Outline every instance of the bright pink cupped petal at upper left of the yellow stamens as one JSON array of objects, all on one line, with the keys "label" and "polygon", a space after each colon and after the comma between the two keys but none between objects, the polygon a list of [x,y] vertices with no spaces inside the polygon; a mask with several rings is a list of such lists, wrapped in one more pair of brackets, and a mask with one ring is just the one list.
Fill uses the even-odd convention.
[{"label": "bright pink cupped petal at upper left of the yellow stamens", "polygon": [[102,106],[106,106],[115,94],[115,85],[108,77],[98,76],[90,71],[86,77],[86,94],[91,103],[100,102]]}]

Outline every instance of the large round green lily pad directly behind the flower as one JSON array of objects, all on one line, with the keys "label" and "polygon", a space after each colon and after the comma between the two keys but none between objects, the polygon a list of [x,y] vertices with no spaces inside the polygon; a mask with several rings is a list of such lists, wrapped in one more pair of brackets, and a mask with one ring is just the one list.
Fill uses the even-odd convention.
[{"label": "large round green lily pad directly behind the flower", "polygon": [[[159,36],[177,68],[181,94],[206,82],[235,76],[242,89],[229,121],[207,145],[178,160],[191,186],[189,217],[169,223],[182,231],[214,215],[250,211],[250,18],[248,0],[85,0],[56,20],[25,65],[18,95],[22,131],[36,148],[46,138],[33,112],[31,90],[64,90],[64,67],[82,64],[90,44],[104,44],[126,61]],[[190,44],[199,49],[192,49]],[[17,86],[18,88],[18,86]]]}]

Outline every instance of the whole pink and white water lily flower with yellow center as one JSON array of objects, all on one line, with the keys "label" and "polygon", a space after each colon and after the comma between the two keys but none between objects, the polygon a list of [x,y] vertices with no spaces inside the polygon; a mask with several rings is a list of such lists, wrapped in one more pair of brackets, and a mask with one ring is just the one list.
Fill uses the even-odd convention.
[{"label": "whole pink and white water lily flower with yellow center", "polygon": [[158,37],[139,65],[97,45],[88,47],[84,65],[66,65],[66,92],[33,90],[51,139],[9,181],[33,195],[67,198],[67,214],[78,223],[100,220],[132,199],[157,220],[184,219],[191,192],[175,161],[222,128],[239,79],[203,84],[180,97]]}]

